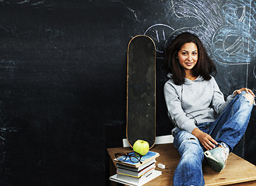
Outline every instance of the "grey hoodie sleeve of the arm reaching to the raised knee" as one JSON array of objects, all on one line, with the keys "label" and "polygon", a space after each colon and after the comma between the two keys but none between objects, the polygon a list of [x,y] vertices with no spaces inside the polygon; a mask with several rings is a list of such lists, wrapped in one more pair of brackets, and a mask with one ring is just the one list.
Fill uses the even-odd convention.
[{"label": "grey hoodie sleeve of the arm reaching to the raised knee", "polygon": [[214,79],[214,77],[212,77],[212,79],[213,79],[212,108],[214,109],[214,111],[217,114],[221,114],[223,112],[224,108],[226,108],[226,106],[229,105],[230,102],[233,100],[235,95],[233,92],[232,95],[229,95],[226,98],[226,102],[225,102],[223,93],[219,90],[219,86],[218,86],[216,80]]}]

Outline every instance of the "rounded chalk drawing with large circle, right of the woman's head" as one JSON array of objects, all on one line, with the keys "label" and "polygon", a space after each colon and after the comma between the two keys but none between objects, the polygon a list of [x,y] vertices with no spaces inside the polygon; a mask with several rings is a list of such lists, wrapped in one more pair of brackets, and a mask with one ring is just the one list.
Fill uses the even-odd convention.
[{"label": "rounded chalk drawing with large circle, right of the woman's head", "polygon": [[251,1],[226,1],[221,10],[226,25],[212,37],[212,57],[223,65],[249,64]]}]

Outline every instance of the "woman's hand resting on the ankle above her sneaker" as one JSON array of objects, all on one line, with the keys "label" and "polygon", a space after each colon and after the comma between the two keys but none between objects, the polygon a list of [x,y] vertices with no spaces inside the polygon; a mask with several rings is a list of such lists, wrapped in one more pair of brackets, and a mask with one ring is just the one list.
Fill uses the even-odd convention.
[{"label": "woman's hand resting on the ankle above her sneaker", "polygon": [[198,140],[200,141],[200,143],[202,143],[202,146],[204,146],[206,150],[212,150],[218,145],[218,143],[212,138],[212,136],[207,133],[203,133],[198,128],[195,128],[192,131],[192,134],[198,138]]}]

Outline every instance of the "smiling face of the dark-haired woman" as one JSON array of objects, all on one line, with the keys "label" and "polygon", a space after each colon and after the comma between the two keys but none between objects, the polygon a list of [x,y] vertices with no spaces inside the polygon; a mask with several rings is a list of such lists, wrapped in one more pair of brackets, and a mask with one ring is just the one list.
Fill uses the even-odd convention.
[{"label": "smiling face of the dark-haired woman", "polygon": [[198,62],[198,47],[195,43],[184,43],[181,50],[177,53],[179,60],[186,73],[190,72],[195,64]]}]

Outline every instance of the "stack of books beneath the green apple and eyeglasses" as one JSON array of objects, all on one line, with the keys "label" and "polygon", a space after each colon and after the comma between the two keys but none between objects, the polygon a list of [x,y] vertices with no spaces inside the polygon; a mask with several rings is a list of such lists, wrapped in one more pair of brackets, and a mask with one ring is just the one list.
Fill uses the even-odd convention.
[{"label": "stack of books beneath the green apple and eyeglasses", "polygon": [[155,170],[156,157],[159,156],[159,153],[149,151],[141,158],[142,164],[133,163],[129,158],[124,161],[114,159],[117,162],[117,174],[111,176],[110,180],[132,186],[146,184],[162,174],[161,171]]}]

